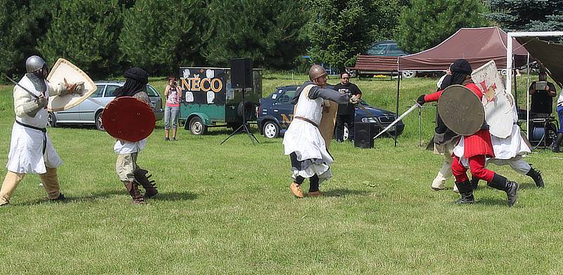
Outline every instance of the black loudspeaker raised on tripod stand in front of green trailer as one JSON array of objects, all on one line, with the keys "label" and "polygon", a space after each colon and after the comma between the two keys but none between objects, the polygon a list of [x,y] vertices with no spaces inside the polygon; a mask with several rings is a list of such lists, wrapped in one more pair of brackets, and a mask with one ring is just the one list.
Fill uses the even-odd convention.
[{"label": "black loudspeaker raised on tripod stand in front of green trailer", "polygon": [[[239,90],[242,93],[242,101],[241,105],[239,105],[239,110],[237,113],[241,114],[242,116],[242,125],[236,130],[233,131],[227,138],[225,138],[221,145],[229,140],[233,135],[239,133],[240,131],[245,131],[246,135],[250,137],[252,144],[254,142],[258,142],[258,139],[251,133],[248,129],[246,124],[246,119],[250,119],[248,116],[248,112],[245,108],[249,105],[246,102],[246,98],[244,97],[244,93],[246,93],[246,89],[252,89],[252,62],[250,58],[234,58],[231,60],[231,86],[235,90]],[[240,110],[240,108],[243,108]],[[248,117],[247,117],[248,116]],[[258,142],[260,143],[260,142]]]}]

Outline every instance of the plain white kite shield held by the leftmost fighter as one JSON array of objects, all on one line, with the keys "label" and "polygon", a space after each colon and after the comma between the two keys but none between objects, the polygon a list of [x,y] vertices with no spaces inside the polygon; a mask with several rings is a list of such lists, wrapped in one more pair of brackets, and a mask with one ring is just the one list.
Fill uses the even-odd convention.
[{"label": "plain white kite shield held by the leftmost fighter", "polygon": [[84,82],[84,89],[78,94],[69,93],[49,97],[48,109],[50,112],[58,112],[75,107],[89,98],[94,93],[94,90],[98,88],[94,81],[90,79],[90,76],[84,73],[82,69],[63,58],[57,60],[49,76],[47,76],[47,80],[51,83],[61,83],[64,81],[68,83]]}]

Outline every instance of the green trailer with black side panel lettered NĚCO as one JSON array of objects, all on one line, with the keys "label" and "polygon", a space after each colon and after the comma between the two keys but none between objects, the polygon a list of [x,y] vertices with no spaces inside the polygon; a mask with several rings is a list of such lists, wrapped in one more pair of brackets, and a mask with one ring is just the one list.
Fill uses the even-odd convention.
[{"label": "green trailer with black side panel lettered N\u011aCO", "polygon": [[256,108],[262,97],[262,70],[253,69],[253,88],[234,89],[231,69],[180,67],[182,102],[180,121],[194,135],[203,135],[209,127],[239,128],[243,117],[256,120]]}]

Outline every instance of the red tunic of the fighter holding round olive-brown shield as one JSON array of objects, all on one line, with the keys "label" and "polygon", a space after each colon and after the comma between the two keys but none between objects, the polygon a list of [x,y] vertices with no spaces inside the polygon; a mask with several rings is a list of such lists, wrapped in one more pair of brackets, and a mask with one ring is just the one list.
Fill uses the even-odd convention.
[{"label": "red tunic of the fighter holding round olive-brown shield", "polygon": [[[475,83],[468,83],[465,88],[469,88],[472,92],[477,95],[479,100],[483,98],[483,92],[475,85]],[[429,95],[424,95],[425,102],[438,101],[443,90],[438,90],[436,93],[431,93]],[[464,135],[464,151],[463,156],[469,159],[472,156],[485,155],[494,157],[495,153],[493,151],[493,144],[491,142],[491,133],[488,130],[478,130],[473,135]]]}]

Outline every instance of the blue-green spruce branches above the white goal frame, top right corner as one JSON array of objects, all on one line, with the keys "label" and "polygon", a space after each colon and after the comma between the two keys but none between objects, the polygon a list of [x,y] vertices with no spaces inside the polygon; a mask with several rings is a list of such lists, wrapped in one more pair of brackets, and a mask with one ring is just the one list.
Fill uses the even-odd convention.
[{"label": "blue-green spruce branches above the white goal frame, top right corner", "polygon": [[487,17],[513,32],[563,30],[563,0],[490,0]]}]

